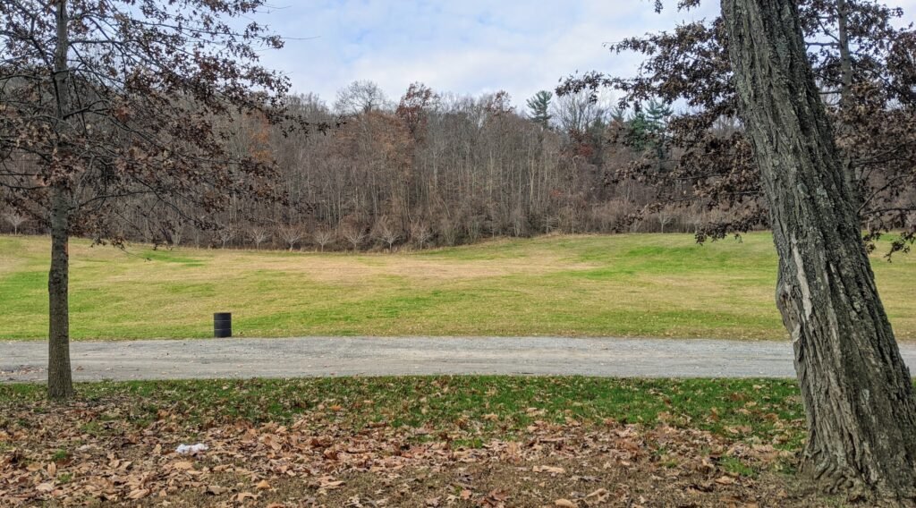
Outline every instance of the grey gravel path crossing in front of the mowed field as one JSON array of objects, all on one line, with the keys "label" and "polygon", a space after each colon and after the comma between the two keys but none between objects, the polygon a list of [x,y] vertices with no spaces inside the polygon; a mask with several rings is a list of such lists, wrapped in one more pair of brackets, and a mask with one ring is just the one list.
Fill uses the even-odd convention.
[{"label": "grey gravel path crossing in front of the mowed field", "polygon": [[[916,365],[916,344],[901,344]],[[74,379],[188,379],[387,374],[583,374],[792,377],[780,341],[518,338],[79,341]],[[0,342],[0,381],[43,381],[47,343]]]}]

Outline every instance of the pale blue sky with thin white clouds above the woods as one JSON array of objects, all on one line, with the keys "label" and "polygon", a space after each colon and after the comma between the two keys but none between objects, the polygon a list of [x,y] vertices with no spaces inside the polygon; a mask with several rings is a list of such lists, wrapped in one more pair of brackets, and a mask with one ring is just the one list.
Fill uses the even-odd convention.
[{"label": "pale blue sky with thin white clouds above the woods", "polygon": [[[637,55],[605,45],[711,18],[719,2],[656,14],[651,0],[272,0],[256,16],[287,38],[262,55],[285,72],[293,92],[329,105],[351,81],[375,81],[397,101],[414,81],[436,92],[479,95],[505,90],[513,103],[578,71],[632,75]],[[668,4],[673,4],[669,1]],[[916,0],[888,0],[916,19]]]}]

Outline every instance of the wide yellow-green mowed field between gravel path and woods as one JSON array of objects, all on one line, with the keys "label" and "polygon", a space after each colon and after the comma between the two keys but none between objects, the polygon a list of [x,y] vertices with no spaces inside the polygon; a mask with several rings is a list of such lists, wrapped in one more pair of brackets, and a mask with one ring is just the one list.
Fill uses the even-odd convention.
[{"label": "wide yellow-green mowed field between gravel path and woods", "polygon": [[[872,257],[901,340],[916,339],[916,258]],[[0,339],[47,336],[45,237],[0,236]],[[125,251],[71,243],[74,339],[196,338],[212,314],[245,337],[785,337],[769,233],[499,240],[409,254]]]}]

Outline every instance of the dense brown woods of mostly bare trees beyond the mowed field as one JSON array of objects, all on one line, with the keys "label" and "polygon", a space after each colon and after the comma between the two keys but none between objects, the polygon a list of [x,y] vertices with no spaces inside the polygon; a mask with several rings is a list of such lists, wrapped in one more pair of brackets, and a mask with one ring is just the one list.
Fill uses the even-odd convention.
[{"label": "dense brown woods of mostly bare trees beyond the mowed field", "polygon": [[[416,83],[391,102],[369,81],[291,98],[325,134],[284,135],[255,117],[227,129],[233,150],[272,159],[283,200],[225,196],[216,227],[201,211],[154,198],[127,200],[118,235],[170,245],[396,249],[551,232],[693,232],[715,220],[703,207],[647,208],[658,189],[618,181],[640,159],[665,170],[671,110],[649,102],[627,113],[583,93],[540,92],[518,108],[506,92],[466,97]],[[724,125],[723,129],[734,128]],[[4,227],[41,232],[6,212]]]}]

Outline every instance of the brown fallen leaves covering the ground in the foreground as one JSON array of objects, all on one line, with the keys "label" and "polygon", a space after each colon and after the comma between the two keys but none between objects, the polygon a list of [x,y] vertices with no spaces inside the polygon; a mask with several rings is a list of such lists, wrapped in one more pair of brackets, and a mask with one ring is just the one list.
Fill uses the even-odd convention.
[{"label": "brown fallen leaves covering the ground in the foreground", "polygon": [[[124,401],[120,401],[125,404]],[[0,503],[213,506],[776,506],[817,504],[769,472],[789,454],[753,439],[614,421],[536,421],[512,438],[462,426],[361,428],[130,421],[119,401],[5,408]],[[336,409],[340,410],[340,409]],[[464,426],[466,427],[466,426]],[[476,439],[476,441],[475,441]],[[203,443],[196,455],[175,451]],[[725,467],[740,463],[754,475]]]}]

